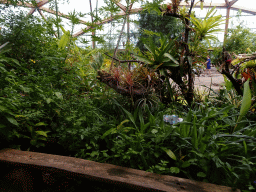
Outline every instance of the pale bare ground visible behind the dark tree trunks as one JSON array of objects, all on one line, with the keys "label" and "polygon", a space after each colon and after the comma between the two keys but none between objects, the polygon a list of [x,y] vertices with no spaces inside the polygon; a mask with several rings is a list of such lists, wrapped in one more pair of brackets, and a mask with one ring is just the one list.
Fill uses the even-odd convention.
[{"label": "pale bare ground visible behind the dark tree trunks", "polygon": [[224,84],[223,75],[220,74],[215,67],[212,67],[210,70],[211,77],[206,73],[206,71],[204,71],[200,77],[195,76],[195,90],[199,89],[208,91],[209,89],[206,87],[210,88],[211,86],[211,88],[217,92]]}]

